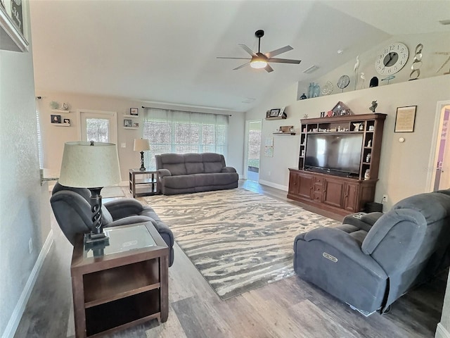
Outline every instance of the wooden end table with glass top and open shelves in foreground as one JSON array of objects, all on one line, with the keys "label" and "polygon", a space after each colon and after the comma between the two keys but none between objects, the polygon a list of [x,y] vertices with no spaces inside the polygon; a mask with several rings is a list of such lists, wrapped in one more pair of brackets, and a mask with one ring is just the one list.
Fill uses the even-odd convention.
[{"label": "wooden end table with glass top and open shelves in foreground", "polygon": [[86,249],[77,236],[70,273],[75,337],[98,337],[167,320],[169,248],[152,223],[106,227],[109,245]]}]

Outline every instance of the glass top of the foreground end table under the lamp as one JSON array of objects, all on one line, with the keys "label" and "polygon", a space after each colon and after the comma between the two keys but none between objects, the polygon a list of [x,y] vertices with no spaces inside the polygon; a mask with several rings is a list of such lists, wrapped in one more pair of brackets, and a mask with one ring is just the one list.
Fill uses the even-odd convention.
[{"label": "glass top of the foreground end table under the lamp", "polygon": [[156,246],[155,240],[148,232],[146,225],[124,227],[108,227],[104,230],[108,242],[84,244],[84,257],[98,257]]}]

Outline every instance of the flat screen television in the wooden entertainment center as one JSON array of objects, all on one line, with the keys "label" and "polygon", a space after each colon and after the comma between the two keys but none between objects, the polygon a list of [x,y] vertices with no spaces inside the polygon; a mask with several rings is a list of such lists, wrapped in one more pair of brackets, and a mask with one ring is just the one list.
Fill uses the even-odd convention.
[{"label": "flat screen television in the wooden entertainment center", "polygon": [[359,175],[363,134],[308,134],[304,168]]}]

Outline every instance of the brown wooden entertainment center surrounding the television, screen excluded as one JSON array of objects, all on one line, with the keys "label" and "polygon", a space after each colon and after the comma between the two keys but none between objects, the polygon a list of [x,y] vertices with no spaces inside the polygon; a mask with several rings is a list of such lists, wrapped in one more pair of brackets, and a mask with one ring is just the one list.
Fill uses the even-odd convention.
[{"label": "brown wooden entertainment center surrounding the television, screen excluded", "polygon": [[[298,169],[289,168],[288,198],[340,215],[363,211],[375,197],[385,118],[386,114],[370,113],[300,120],[300,156]],[[305,165],[308,135],[324,133],[362,135],[357,175],[314,171]]]}]

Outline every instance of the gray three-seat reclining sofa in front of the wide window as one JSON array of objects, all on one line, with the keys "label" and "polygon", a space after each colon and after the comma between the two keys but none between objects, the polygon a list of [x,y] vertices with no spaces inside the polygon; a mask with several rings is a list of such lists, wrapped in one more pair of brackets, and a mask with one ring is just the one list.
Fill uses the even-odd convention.
[{"label": "gray three-seat reclining sofa in front of the wide window", "polygon": [[155,155],[162,194],[187,194],[238,187],[239,175],[221,154]]}]

